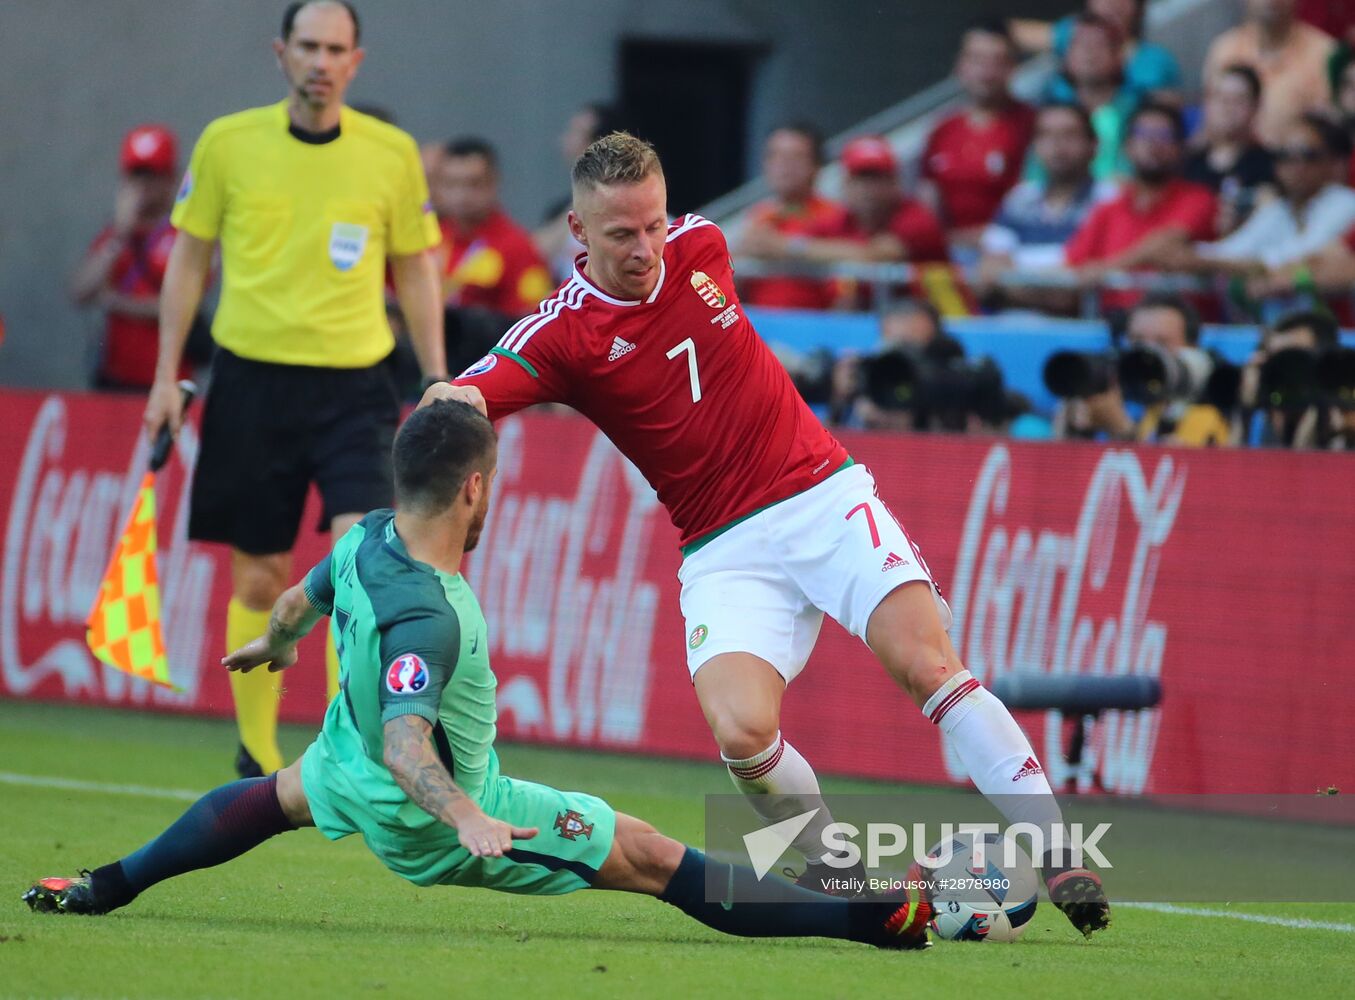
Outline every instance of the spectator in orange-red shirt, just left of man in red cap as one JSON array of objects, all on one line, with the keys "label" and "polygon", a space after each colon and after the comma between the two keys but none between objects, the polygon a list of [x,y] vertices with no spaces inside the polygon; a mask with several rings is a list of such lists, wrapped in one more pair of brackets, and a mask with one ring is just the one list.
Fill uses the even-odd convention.
[{"label": "spectator in orange-red shirt, just left of man in red cap", "polygon": [[[846,209],[814,191],[822,152],[822,136],[812,125],[783,125],[767,137],[763,179],[772,196],[748,210],[737,253],[775,260],[787,255],[787,240],[840,225]],[[747,305],[782,309],[828,309],[836,297],[832,282],[812,278],[748,278],[738,289]]]}]

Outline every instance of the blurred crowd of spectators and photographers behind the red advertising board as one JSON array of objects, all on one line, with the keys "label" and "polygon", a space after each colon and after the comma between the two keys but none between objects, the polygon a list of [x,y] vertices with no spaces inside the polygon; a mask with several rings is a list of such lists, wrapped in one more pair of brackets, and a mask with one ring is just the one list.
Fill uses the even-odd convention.
[{"label": "blurred crowd of spectators and photographers behind the red advertising board", "polygon": [[[768,196],[729,226],[743,301],[881,317],[870,356],[785,352],[825,416],[869,428],[1355,447],[1355,351],[1337,335],[1355,325],[1355,3],[1247,0],[1243,22],[1210,45],[1201,95],[1186,91],[1171,50],[1144,38],[1144,0],[1085,0],[1051,24],[970,27],[954,66],[962,106],[911,160],[883,136],[847,142],[839,198],[820,184],[825,144],[812,123],[767,136]],[[1057,70],[1031,106],[1012,77],[1039,51]],[[580,107],[561,134],[564,160],[621,122],[610,107]],[[430,142],[423,161],[455,371],[534,310],[580,248],[566,198],[534,232],[509,217],[489,141]],[[133,130],[121,165],[111,220],[72,297],[104,313],[96,385],[142,390],[173,240],[173,133]],[[1106,322],[1103,354],[1050,359],[1046,388],[1061,400],[1051,416],[1033,413],[996,364],[967,358],[944,329],[954,316],[1014,310]],[[1263,333],[1234,366],[1201,350],[1202,321]],[[210,348],[205,333],[190,339],[186,363],[202,360],[199,347]],[[404,364],[413,386],[417,370]]]}]

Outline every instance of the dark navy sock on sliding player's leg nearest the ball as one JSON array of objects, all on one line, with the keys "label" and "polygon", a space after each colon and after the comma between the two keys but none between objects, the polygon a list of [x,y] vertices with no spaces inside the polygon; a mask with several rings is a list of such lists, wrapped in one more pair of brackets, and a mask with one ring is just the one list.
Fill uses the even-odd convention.
[{"label": "dark navy sock on sliding player's leg nearest the ball", "polygon": [[[706,879],[721,886],[721,900],[706,898]],[[757,896],[757,902],[737,902]],[[760,882],[752,869],[711,860],[687,848],[672,881],[659,897],[724,934],[743,938],[839,938],[878,944],[883,923],[898,904],[848,902],[801,889],[779,878]]]}]

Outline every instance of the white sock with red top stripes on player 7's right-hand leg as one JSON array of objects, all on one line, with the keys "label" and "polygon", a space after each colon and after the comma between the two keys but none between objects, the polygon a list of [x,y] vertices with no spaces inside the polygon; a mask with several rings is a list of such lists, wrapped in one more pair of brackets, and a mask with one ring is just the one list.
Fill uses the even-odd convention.
[{"label": "white sock with red top stripes on player 7's right-hand leg", "polygon": [[[997,698],[961,671],[927,699],[923,714],[950,738],[974,786],[1008,822],[1030,822],[1051,846],[1064,814],[1026,733]],[[1039,858],[1035,859],[1039,864]]]}]

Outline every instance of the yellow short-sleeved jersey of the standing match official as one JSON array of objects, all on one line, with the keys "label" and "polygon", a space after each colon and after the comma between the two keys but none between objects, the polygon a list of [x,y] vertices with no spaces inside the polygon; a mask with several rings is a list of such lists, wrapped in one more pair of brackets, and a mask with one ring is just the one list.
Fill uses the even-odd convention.
[{"label": "yellow short-sleeved jersey of the standing match official", "polygon": [[348,107],[329,142],[305,142],[289,125],[286,102],[218,118],[179,188],[173,225],[221,241],[213,337],[275,364],[375,364],[394,347],[386,256],[439,240],[419,150]]}]

